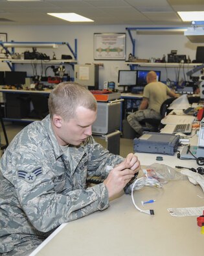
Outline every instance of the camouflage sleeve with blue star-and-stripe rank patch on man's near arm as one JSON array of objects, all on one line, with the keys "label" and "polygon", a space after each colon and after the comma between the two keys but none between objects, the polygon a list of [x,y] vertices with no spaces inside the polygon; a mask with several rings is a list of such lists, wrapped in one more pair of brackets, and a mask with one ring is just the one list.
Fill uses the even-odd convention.
[{"label": "camouflage sleeve with blue star-and-stripe rank patch on man's near arm", "polygon": [[[51,161],[54,160],[48,157],[42,161],[41,155],[39,148],[32,151],[28,146],[21,146],[10,161],[6,157],[3,160],[4,168],[10,170],[6,178],[16,188],[19,208],[38,231],[51,231],[62,223],[108,207],[108,190],[103,183],[72,190],[71,185],[65,185],[64,172],[53,175]],[[63,194],[65,186],[69,186],[67,194]]]}]

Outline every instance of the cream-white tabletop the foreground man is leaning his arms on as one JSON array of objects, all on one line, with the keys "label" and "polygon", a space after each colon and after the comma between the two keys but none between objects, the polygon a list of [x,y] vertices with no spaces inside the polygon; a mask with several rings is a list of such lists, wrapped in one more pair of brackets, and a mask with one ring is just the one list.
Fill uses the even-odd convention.
[{"label": "cream-white tabletop the foreground man is leaning his arms on", "polygon": [[[197,140],[194,136],[191,142]],[[198,168],[196,160],[180,160],[176,154],[135,154],[142,165],[157,162],[171,167]],[[162,156],[163,161],[157,161],[157,156]],[[197,225],[197,216],[174,217],[167,211],[180,207],[203,207],[204,210],[204,193],[199,185],[192,185],[186,177],[168,181],[163,188],[145,186],[134,192],[134,199],[141,209],[153,209],[155,214],[139,212],[130,195],[120,194],[110,201],[105,211],[61,225],[32,255],[203,255],[204,235]],[[155,202],[143,208],[141,201],[149,199]]]}]

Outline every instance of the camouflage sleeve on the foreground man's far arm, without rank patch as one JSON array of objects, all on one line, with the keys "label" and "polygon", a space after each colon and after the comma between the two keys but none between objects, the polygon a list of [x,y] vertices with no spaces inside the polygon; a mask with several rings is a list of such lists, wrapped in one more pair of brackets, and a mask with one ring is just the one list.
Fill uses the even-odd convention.
[{"label": "camouflage sleeve on the foreground man's far arm, without rank patch", "polygon": [[88,174],[89,176],[98,176],[106,179],[109,171],[117,164],[124,160],[120,155],[113,155],[100,144],[92,140],[89,144],[89,161],[88,161]]}]

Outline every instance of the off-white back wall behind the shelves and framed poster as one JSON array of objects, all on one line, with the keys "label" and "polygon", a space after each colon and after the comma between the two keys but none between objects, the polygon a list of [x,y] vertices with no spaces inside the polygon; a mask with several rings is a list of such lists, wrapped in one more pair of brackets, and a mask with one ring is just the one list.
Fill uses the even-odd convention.
[{"label": "off-white back wall behind the shelves and framed poster", "polygon": [[[78,40],[78,64],[85,63],[103,63],[104,67],[99,68],[100,88],[103,87],[104,81],[115,81],[117,84],[118,70],[128,70],[129,67],[124,63],[124,60],[94,60],[93,59],[93,35],[95,32],[126,32],[126,27],[122,25],[62,25],[62,26],[1,26],[1,32],[8,34],[8,41],[21,42],[69,42],[74,49],[74,38]],[[132,52],[132,45],[128,32],[126,32],[126,60],[129,53]],[[191,60],[196,58],[196,47],[202,44],[192,44],[188,39],[179,35],[137,35],[132,31],[133,38],[136,39],[135,56],[139,58],[162,58],[163,55],[170,53],[172,49],[177,50],[178,55],[187,55]],[[16,49],[21,53],[28,49]],[[29,49],[32,51],[32,49]],[[47,53],[51,58],[53,49],[39,48],[38,51]],[[66,46],[59,47],[54,50],[56,57],[60,58],[62,54],[69,55],[69,49]],[[0,64],[0,70],[4,70],[5,66]],[[26,67],[26,69],[28,66]],[[40,67],[38,67],[40,68]],[[6,66],[6,69],[8,67]],[[143,68],[142,68],[143,69]],[[150,69],[150,68],[148,68]],[[24,65],[18,65],[17,70],[25,70]],[[176,80],[178,69],[175,68],[155,68],[161,70],[161,80],[166,81],[169,78],[172,81]],[[187,70],[180,69],[179,79],[184,79]],[[32,72],[32,67],[30,67]],[[40,72],[40,70],[38,70]],[[71,71],[72,72],[72,71]],[[30,74],[31,75],[31,74]],[[187,77],[185,77],[187,79]]]}]

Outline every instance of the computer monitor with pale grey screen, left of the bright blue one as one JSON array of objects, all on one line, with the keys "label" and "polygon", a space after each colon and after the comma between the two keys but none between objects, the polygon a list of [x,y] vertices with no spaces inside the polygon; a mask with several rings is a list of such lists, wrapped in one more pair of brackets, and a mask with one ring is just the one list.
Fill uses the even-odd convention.
[{"label": "computer monitor with pale grey screen, left of the bright blue one", "polygon": [[131,87],[137,84],[137,70],[119,70],[119,86],[127,87],[127,92],[131,92]]}]

